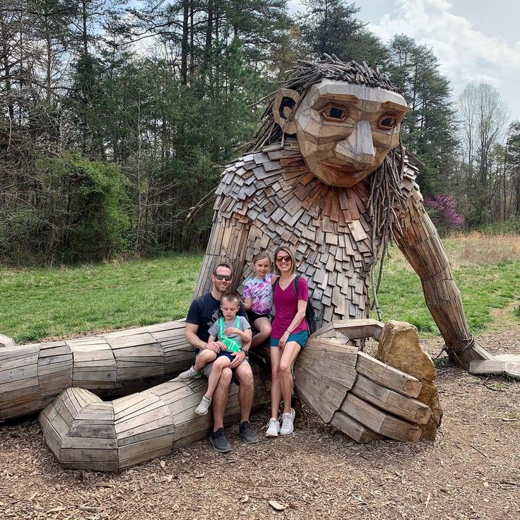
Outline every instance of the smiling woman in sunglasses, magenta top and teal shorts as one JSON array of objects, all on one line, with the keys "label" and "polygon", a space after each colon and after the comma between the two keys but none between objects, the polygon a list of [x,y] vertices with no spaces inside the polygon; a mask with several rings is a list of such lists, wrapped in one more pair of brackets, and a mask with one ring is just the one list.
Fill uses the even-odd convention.
[{"label": "smiling woman in sunglasses, magenta top and teal shorts", "polygon": [[[276,314],[271,332],[271,419],[267,423],[266,437],[289,435],[293,432],[295,410],[291,407],[293,396],[293,366],[300,350],[305,347],[309,328],[305,309],[309,288],[305,278],[299,278],[295,290],[295,256],[287,247],[279,247],[275,253],[275,274],[280,278],[274,288]],[[278,409],[283,397],[282,426],[278,422]]]}]

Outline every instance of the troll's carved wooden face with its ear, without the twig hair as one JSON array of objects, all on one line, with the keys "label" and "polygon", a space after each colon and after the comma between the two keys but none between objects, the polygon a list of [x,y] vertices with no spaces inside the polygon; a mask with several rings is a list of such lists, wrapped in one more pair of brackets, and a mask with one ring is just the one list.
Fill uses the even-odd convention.
[{"label": "troll's carved wooden face with its ear, without the twig hair", "polygon": [[383,88],[324,79],[300,99],[282,89],[273,114],[296,134],[305,164],[321,181],[350,187],[376,170],[399,143],[408,112],[403,96]]}]

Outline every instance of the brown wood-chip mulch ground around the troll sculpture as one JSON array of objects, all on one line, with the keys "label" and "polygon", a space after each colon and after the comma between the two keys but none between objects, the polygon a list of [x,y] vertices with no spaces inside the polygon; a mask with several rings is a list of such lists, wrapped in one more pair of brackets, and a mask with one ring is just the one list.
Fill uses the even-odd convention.
[{"label": "brown wood-chip mulch ground around the troll sculpture", "polygon": [[[479,338],[520,354],[520,326]],[[437,355],[442,342],[423,341]],[[64,471],[35,418],[0,427],[0,514],[14,519],[518,519],[520,382],[441,363],[434,443],[355,444],[305,411],[287,438],[196,442],[119,474]]]}]

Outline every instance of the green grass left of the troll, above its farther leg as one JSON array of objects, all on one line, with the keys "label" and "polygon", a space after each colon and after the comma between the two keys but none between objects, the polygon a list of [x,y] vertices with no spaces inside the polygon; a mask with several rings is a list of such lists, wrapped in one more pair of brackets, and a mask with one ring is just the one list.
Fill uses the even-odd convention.
[{"label": "green grass left of the troll, above its farther leg", "polygon": [[0,268],[0,333],[17,342],[185,317],[201,254],[67,268]]}]

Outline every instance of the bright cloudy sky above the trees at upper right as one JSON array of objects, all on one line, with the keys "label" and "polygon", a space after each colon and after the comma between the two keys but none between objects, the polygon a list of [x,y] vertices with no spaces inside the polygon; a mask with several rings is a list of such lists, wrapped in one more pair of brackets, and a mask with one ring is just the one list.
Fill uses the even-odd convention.
[{"label": "bright cloudy sky above the trees at upper right", "polygon": [[[290,0],[291,11],[303,11]],[[359,0],[368,28],[387,42],[406,34],[432,47],[456,98],[468,83],[490,83],[520,119],[520,1]]]}]

